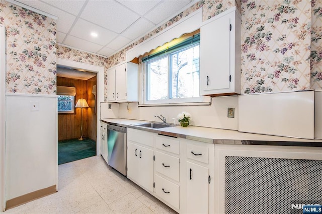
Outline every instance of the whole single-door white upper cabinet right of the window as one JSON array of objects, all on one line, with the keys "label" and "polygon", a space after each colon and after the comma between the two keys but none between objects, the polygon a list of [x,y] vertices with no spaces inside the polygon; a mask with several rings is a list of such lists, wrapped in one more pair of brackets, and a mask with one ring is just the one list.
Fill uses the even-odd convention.
[{"label": "whole single-door white upper cabinet right of the window", "polygon": [[229,10],[200,28],[200,95],[240,94],[240,25]]}]

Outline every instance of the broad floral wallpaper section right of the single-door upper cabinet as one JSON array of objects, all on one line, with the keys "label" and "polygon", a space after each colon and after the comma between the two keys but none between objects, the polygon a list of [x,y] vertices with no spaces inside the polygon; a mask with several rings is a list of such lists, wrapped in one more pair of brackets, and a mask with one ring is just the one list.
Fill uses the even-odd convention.
[{"label": "broad floral wallpaper section right of the single-door upper cabinet", "polygon": [[311,3],[241,0],[241,91],[310,88]]}]

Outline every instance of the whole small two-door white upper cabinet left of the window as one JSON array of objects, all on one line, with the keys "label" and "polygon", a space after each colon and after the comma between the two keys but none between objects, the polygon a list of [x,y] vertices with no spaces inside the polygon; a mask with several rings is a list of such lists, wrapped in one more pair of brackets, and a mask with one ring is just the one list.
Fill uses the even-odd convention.
[{"label": "whole small two-door white upper cabinet left of the window", "polygon": [[107,101],[138,101],[138,65],[122,63],[107,70]]}]

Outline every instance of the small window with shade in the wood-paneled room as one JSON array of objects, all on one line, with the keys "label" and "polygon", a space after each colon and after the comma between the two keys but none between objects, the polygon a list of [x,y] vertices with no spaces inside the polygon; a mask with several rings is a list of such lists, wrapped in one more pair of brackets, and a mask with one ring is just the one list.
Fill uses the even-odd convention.
[{"label": "small window with shade in the wood-paneled room", "polygon": [[75,87],[57,86],[58,113],[75,113]]}]

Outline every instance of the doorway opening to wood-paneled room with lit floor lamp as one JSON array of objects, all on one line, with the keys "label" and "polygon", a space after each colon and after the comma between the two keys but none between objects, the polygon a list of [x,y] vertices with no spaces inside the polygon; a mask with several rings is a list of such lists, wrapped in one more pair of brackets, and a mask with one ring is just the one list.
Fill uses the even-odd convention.
[{"label": "doorway opening to wood-paneled room with lit floor lamp", "polygon": [[58,165],[96,155],[96,73],[57,66]]}]

